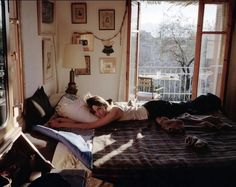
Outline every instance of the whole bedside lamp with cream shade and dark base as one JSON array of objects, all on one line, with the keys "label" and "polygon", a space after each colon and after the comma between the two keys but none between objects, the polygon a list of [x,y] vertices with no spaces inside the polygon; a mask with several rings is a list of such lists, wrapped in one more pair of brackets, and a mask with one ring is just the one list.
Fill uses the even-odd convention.
[{"label": "whole bedside lamp with cream shade and dark base", "polygon": [[75,68],[86,68],[83,46],[80,44],[67,44],[64,49],[63,67],[71,68],[70,82],[66,93],[75,94],[78,89],[75,83]]}]

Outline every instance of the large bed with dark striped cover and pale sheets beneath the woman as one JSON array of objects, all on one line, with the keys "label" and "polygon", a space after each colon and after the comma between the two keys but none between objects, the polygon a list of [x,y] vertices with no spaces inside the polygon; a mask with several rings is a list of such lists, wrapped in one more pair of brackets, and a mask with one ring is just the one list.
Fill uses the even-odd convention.
[{"label": "large bed with dark striped cover and pale sheets beneath the woman", "polygon": [[[89,136],[90,152],[85,153],[91,156],[89,164],[64,139],[49,135],[57,143],[48,156],[60,169],[87,169],[115,186],[236,186],[236,123],[222,113],[210,116],[220,123],[209,123],[204,115],[179,116],[184,121],[181,133],[170,133],[152,120],[118,121],[95,129]],[[48,136],[47,130],[33,132]],[[197,147],[188,138],[204,144]]]}]

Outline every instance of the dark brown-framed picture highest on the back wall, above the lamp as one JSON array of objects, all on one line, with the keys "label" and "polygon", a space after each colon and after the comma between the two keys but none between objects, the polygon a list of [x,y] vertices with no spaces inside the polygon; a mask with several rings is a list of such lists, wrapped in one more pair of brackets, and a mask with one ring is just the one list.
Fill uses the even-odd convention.
[{"label": "dark brown-framed picture highest on the back wall, above the lamp", "polygon": [[71,22],[73,24],[87,23],[86,3],[71,3]]}]

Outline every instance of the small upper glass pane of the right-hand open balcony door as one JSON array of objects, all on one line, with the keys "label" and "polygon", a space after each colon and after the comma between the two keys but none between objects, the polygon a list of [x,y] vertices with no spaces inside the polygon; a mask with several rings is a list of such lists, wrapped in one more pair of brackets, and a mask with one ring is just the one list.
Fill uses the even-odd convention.
[{"label": "small upper glass pane of the right-hand open balcony door", "polygon": [[225,4],[207,4],[204,9],[203,31],[225,31]]}]

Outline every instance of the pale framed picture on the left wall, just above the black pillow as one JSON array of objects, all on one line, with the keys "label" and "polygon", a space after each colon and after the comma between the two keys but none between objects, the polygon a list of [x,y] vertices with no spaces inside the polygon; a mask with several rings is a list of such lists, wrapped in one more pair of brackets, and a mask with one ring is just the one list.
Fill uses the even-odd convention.
[{"label": "pale framed picture on the left wall, just above the black pillow", "polygon": [[42,40],[43,52],[43,83],[45,84],[53,77],[53,45],[50,38],[43,38]]}]

